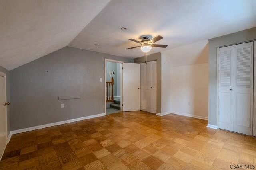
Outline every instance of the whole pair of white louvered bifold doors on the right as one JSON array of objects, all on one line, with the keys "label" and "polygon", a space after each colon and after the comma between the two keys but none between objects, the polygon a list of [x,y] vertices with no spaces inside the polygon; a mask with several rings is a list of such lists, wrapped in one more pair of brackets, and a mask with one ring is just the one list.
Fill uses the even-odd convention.
[{"label": "whole pair of white louvered bifold doors on the right", "polygon": [[219,128],[253,133],[253,42],[219,49]]}]

